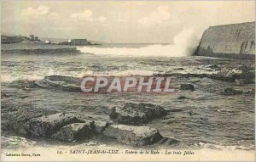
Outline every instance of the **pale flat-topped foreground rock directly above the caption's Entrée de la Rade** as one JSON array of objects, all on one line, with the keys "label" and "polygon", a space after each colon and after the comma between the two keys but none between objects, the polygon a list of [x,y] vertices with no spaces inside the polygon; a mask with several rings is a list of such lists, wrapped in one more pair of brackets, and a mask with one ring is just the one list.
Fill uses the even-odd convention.
[{"label": "pale flat-topped foreground rock directly above the caption's Entr\u00e9e de la Rade", "polygon": [[103,134],[131,146],[150,145],[163,138],[159,131],[149,126],[110,125]]}]

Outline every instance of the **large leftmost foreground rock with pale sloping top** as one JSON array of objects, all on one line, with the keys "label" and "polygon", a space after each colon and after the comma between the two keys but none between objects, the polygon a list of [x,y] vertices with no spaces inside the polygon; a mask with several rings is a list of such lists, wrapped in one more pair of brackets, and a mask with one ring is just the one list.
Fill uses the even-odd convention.
[{"label": "large leftmost foreground rock with pale sloping top", "polygon": [[83,122],[84,120],[80,120],[72,114],[57,113],[55,115],[44,115],[28,120],[26,132],[33,137],[50,137],[56,131],[59,131],[62,126]]}]

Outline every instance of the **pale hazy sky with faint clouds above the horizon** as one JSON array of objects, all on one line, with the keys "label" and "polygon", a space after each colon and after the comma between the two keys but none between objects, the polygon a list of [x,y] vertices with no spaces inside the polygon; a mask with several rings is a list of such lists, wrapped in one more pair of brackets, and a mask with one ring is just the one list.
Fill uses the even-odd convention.
[{"label": "pale hazy sky with faint clouds above the horizon", "polygon": [[2,0],[1,31],[100,42],[173,42],[184,29],[255,21],[254,1]]}]

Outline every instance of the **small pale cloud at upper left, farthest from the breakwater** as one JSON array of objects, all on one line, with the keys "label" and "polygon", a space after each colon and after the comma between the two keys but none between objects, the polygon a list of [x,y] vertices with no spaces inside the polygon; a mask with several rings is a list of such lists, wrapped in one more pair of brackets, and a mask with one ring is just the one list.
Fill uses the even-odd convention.
[{"label": "small pale cloud at upper left, farthest from the breakwater", "polygon": [[47,6],[39,6],[38,8],[26,8],[21,11],[24,16],[39,16],[49,13],[49,8]]}]

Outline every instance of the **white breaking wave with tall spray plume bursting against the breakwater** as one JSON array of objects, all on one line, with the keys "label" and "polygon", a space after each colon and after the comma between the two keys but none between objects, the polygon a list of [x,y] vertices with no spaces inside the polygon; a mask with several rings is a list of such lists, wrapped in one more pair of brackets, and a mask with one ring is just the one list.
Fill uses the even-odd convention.
[{"label": "white breaking wave with tall spray plume bursting against the breakwater", "polygon": [[149,45],[146,47],[77,47],[81,53],[94,53],[115,57],[184,57],[195,51],[198,36],[192,30],[183,30],[174,37],[170,45]]}]

